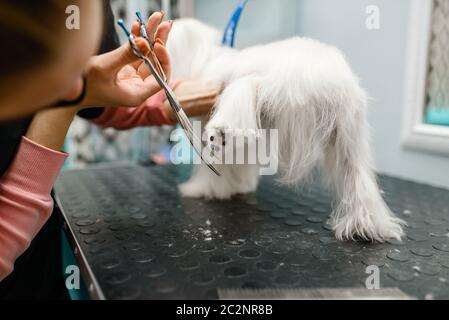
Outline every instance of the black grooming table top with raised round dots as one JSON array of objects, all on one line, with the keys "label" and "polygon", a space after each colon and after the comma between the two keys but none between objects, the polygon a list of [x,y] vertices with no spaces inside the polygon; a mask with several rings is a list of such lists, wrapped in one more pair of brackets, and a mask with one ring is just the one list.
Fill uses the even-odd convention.
[{"label": "black grooming table top with raised round dots", "polygon": [[403,243],[338,242],[326,222],[332,196],[318,186],[293,192],[263,178],[257,194],[232,201],[183,199],[176,185],[188,171],[124,165],[62,174],[57,203],[92,298],[357,292],[373,265],[381,288],[449,298],[448,190],[381,176],[387,203],[408,223]]}]

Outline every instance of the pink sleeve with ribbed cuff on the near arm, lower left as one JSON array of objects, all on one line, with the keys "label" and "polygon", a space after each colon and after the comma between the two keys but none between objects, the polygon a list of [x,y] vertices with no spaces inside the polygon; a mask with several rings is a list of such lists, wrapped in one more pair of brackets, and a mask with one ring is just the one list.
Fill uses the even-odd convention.
[{"label": "pink sleeve with ribbed cuff on the near arm, lower left", "polygon": [[23,137],[0,178],[0,281],[49,218],[50,192],[66,157]]}]

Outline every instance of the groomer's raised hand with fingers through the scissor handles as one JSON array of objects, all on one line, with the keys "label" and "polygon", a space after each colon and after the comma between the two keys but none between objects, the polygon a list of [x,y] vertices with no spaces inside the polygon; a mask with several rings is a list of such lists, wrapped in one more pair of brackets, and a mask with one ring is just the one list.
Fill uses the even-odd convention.
[{"label": "groomer's raised hand with fingers through the scissor handles", "polygon": [[[155,53],[167,76],[170,75],[170,59],[165,48],[171,22],[162,22],[163,13],[154,13],[148,21],[149,35],[155,40]],[[139,28],[136,22],[133,32]],[[151,32],[151,33],[150,33]],[[137,38],[139,49],[148,55],[149,46],[143,38]],[[91,59],[87,72],[87,94],[82,107],[135,107],[160,90],[156,79],[145,70],[133,54],[129,43],[109,53]]]}]

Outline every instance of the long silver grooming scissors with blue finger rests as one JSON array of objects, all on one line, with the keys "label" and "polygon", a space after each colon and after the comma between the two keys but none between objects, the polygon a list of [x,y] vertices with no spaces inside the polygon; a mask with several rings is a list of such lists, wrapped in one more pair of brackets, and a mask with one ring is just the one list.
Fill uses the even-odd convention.
[{"label": "long silver grooming scissors with blue finger rests", "polygon": [[205,147],[205,144],[203,143],[201,138],[195,134],[193,126],[190,123],[189,118],[187,117],[185,111],[182,109],[182,106],[179,103],[178,99],[176,98],[175,93],[168,85],[167,77],[165,76],[164,70],[161,66],[159,59],[156,56],[156,53],[154,52],[154,44],[150,41],[150,39],[147,35],[147,32],[145,30],[145,24],[143,23],[143,19],[141,19],[141,17],[142,16],[139,12],[138,18],[141,22],[140,33],[141,33],[142,38],[144,38],[150,46],[151,55],[153,57],[153,60],[156,63],[156,66],[153,64],[153,62],[150,59],[148,59],[148,57],[142,51],[140,51],[140,49],[138,48],[138,46],[136,44],[135,36],[131,32],[129,32],[129,30],[126,28],[124,21],[122,19],[120,19],[120,20],[118,20],[117,23],[123,29],[126,36],[128,37],[128,41],[133,50],[134,55],[144,61],[144,63],[150,69],[151,73],[153,74],[153,76],[156,79],[159,86],[165,91],[165,93],[167,95],[167,100],[168,100],[171,108],[173,109],[173,111],[178,119],[179,124],[183,128],[187,138],[189,139],[191,145],[193,146],[193,149],[200,156],[201,160],[209,167],[209,169],[212,170],[212,172],[214,172],[217,176],[221,176],[221,174],[218,172],[218,170],[213,166],[212,162],[209,161],[209,159],[206,159],[205,157],[203,157],[201,149],[202,149],[202,147]]}]

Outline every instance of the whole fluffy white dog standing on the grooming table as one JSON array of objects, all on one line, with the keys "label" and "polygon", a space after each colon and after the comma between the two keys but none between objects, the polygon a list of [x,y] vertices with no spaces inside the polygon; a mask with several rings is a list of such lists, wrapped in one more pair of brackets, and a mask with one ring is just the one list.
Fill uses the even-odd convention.
[{"label": "whole fluffy white dog standing on the grooming table", "polygon": [[[218,30],[182,19],[168,43],[175,78],[224,87],[207,119],[212,148],[238,129],[278,129],[280,181],[304,183],[319,166],[336,192],[331,223],[338,239],[401,239],[404,222],[382,199],[371,164],[366,94],[342,53],[299,37],[241,51],[220,39]],[[228,199],[257,189],[257,165],[218,168],[221,177],[196,168],[182,195]]]}]

